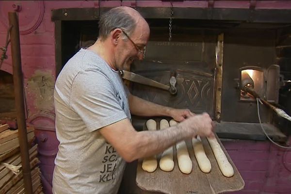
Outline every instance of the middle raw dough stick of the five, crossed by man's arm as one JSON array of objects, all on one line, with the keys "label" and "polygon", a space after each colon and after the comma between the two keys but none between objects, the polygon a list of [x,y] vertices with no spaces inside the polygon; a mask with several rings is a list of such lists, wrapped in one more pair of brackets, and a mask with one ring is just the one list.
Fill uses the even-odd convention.
[{"label": "middle raw dough stick of the five, crossed by man's arm", "polygon": [[[177,122],[175,120],[170,121],[170,126],[177,125]],[[180,141],[176,144],[177,149],[177,160],[178,160],[178,166],[182,173],[184,174],[190,174],[192,171],[192,161],[189,156],[189,152],[186,146],[185,141]]]}]

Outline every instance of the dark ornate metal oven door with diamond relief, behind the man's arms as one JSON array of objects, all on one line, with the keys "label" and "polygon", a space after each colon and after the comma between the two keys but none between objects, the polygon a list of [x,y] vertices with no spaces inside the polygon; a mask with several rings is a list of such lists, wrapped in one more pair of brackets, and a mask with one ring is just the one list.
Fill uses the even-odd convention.
[{"label": "dark ornate metal oven door with diamond relief, behind the man's arms", "polygon": [[201,35],[192,42],[149,41],[146,58],[135,62],[131,71],[169,85],[177,79],[177,95],[132,83],[133,95],[175,108],[188,108],[194,113],[207,112],[214,117],[214,71],[217,35]]}]

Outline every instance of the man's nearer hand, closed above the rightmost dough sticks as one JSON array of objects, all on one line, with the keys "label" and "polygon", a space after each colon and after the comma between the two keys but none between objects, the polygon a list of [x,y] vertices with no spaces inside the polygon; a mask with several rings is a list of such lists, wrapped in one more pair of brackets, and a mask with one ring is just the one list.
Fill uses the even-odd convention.
[{"label": "man's nearer hand, closed above the rightmost dough sticks", "polygon": [[185,119],[179,123],[179,128],[184,130],[190,136],[195,137],[197,135],[204,137],[214,137],[214,123],[211,120],[208,113],[196,114]]}]

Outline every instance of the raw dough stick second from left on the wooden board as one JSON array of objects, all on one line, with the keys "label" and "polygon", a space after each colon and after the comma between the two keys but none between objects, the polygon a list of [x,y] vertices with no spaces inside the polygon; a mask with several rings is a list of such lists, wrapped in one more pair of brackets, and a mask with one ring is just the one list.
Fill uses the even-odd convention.
[{"label": "raw dough stick second from left on the wooden board", "polygon": [[[169,128],[169,123],[166,119],[160,121],[160,130]],[[173,160],[173,146],[167,148],[163,153],[160,160],[160,168],[163,171],[170,172],[174,169]]]}]

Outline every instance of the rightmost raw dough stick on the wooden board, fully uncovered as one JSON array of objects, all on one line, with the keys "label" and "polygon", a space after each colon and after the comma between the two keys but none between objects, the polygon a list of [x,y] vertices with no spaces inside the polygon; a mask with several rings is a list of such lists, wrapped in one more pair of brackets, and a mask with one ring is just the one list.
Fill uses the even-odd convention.
[{"label": "rightmost raw dough stick on the wooden board, fully uncovered", "polygon": [[234,170],[232,165],[228,162],[226,154],[222,150],[221,146],[217,142],[216,138],[207,138],[218,166],[225,177],[232,177],[234,175]]}]

